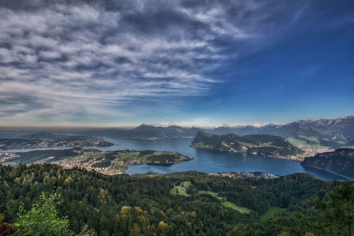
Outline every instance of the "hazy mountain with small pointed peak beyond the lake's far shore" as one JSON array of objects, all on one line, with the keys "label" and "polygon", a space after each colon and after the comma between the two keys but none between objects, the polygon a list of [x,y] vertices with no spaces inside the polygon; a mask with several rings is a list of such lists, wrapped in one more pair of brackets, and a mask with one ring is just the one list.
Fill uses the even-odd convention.
[{"label": "hazy mountain with small pointed peak beyond the lake's far shore", "polygon": [[194,137],[197,128],[183,128],[179,126],[151,126],[140,125],[133,129],[104,129],[79,132],[82,135],[110,138],[129,138],[134,140],[153,140],[156,138],[187,138]]}]

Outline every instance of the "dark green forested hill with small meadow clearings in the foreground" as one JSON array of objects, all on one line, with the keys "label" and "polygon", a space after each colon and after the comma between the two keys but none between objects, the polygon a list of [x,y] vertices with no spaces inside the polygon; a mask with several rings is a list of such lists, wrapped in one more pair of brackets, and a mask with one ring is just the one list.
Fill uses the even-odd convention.
[{"label": "dark green forested hill with small meadow clearings in the foreground", "polygon": [[[291,212],[316,215],[306,201],[322,199],[339,183],[304,173],[272,180],[194,171],[129,176],[48,164],[0,165],[0,179],[3,222],[14,223],[21,202],[28,210],[42,191],[54,188],[63,200],[59,216],[68,216],[70,228],[78,233],[87,224],[99,236],[276,236],[283,226],[304,235]],[[175,194],[179,185],[188,196]]]}]

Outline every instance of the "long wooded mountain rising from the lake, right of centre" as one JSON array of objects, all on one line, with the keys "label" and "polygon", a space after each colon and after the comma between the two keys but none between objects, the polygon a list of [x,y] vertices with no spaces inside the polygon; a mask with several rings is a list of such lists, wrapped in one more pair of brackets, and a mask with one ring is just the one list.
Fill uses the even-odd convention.
[{"label": "long wooded mountain rising from the lake, right of centre", "polygon": [[284,138],[267,134],[238,136],[235,134],[206,134],[198,131],[190,146],[249,152],[266,156],[297,156],[303,153],[301,149],[296,148]]}]

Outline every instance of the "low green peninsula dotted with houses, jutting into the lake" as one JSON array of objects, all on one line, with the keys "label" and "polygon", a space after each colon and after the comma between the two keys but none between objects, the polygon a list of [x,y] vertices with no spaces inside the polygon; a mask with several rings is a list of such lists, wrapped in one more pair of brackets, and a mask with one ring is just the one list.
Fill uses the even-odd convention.
[{"label": "low green peninsula dotted with houses, jutting into the lake", "polygon": [[97,149],[72,148],[4,153],[0,155],[0,162],[1,160],[2,165],[56,163],[65,169],[77,167],[87,170],[94,169],[104,174],[122,174],[128,169],[128,165],[144,163],[170,164],[193,160],[193,157],[185,156],[178,152],[154,150],[101,151]]}]

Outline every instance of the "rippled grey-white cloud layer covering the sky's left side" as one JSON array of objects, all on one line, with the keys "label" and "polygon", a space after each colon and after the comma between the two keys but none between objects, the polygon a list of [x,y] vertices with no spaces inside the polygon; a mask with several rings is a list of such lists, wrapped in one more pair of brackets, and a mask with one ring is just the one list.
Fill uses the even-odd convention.
[{"label": "rippled grey-white cloud layer covering the sky's left side", "polygon": [[267,44],[303,6],[287,16],[259,1],[5,2],[0,119],[95,123],[210,95],[230,60]]}]

